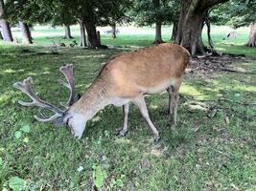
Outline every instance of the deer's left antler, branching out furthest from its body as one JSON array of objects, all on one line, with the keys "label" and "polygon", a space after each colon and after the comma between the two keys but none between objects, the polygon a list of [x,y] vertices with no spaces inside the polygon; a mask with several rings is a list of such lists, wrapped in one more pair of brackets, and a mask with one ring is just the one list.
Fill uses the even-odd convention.
[{"label": "deer's left antler, branching out furthest from its body", "polygon": [[63,111],[58,109],[58,107],[40,99],[38,96],[35,95],[35,93],[33,92],[32,88],[31,88],[31,77],[28,77],[27,79],[24,79],[23,82],[16,82],[13,84],[13,86],[15,88],[17,88],[18,90],[20,90],[21,92],[25,93],[27,96],[30,96],[32,99],[32,102],[24,102],[24,101],[18,101],[19,104],[23,105],[23,106],[38,106],[38,107],[42,107],[48,110],[51,110],[52,112],[56,113],[54,116],[49,117],[49,118],[39,118],[35,116],[35,119],[39,120],[39,121],[50,121],[53,120],[57,117],[61,117],[61,115],[63,114]]}]

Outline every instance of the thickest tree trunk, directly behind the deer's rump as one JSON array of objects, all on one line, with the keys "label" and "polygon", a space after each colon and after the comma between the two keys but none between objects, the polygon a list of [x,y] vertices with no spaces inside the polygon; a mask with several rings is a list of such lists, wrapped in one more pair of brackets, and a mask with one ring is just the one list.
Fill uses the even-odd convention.
[{"label": "thickest tree trunk, directly behind the deer's rump", "polygon": [[181,0],[175,43],[185,47],[192,55],[204,54],[201,32],[207,12],[228,0]]}]

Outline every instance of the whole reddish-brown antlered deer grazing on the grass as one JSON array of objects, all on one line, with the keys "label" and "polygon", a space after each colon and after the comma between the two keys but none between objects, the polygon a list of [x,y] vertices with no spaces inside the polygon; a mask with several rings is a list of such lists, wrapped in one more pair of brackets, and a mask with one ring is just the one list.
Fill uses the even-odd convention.
[{"label": "whole reddish-brown antlered deer grazing on the grass", "polygon": [[160,138],[159,133],[151,122],[144,96],[168,92],[169,124],[171,130],[175,130],[178,92],[189,60],[190,53],[185,48],[172,43],[113,55],[80,98],[76,94],[73,66],[70,64],[62,66],[59,70],[64,74],[67,82],[58,81],[70,90],[67,103],[61,104],[64,106],[63,109],[36,96],[31,87],[31,77],[13,85],[32,99],[32,102],[19,100],[19,104],[41,107],[54,113],[53,116],[41,113],[41,117],[35,116],[36,120],[40,122],[55,120],[56,126],[66,123],[75,138],[81,138],[86,122],[110,104],[123,107],[123,126],[118,130],[117,136],[125,137],[128,132],[129,104],[132,102],[147,121],[153,140],[157,142]]}]

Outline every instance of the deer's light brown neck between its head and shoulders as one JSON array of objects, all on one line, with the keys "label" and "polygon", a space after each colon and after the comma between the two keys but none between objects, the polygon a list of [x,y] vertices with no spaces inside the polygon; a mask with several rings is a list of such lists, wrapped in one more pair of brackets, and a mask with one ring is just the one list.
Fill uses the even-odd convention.
[{"label": "deer's light brown neck between its head and shoulders", "polygon": [[82,114],[88,120],[109,104],[107,89],[105,89],[104,84],[96,82],[89,87],[70,109],[73,112]]}]

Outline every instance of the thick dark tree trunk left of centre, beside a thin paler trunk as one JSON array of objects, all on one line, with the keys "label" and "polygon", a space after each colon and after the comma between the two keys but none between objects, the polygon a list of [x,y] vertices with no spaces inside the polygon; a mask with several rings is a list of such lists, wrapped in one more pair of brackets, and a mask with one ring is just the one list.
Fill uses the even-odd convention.
[{"label": "thick dark tree trunk left of centre, beside a thin paler trunk", "polygon": [[91,49],[101,48],[102,45],[97,36],[95,24],[88,19],[84,20],[84,24],[88,35],[88,47]]}]

